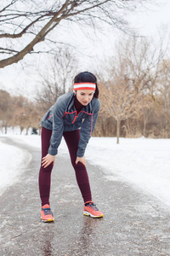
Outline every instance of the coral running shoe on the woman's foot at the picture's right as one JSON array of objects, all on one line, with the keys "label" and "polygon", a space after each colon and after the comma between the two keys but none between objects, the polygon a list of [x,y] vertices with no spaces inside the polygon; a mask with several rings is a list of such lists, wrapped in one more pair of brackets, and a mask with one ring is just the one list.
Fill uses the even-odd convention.
[{"label": "coral running shoe on the woman's foot at the picture's right", "polygon": [[104,214],[94,205],[94,201],[87,201],[84,204],[83,214],[92,218],[102,218]]}]

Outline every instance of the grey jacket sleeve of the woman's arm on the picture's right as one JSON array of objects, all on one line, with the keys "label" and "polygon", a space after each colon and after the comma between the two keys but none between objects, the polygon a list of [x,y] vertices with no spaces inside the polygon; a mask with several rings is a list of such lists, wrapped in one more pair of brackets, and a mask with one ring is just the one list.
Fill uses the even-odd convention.
[{"label": "grey jacket sleeve of the woman's arm on the picture's right", "polygon": [[98,119],[99,108],[100,108],[100,102],[99,100],[97,100],[97,102],[95,103],[94,113],[88,114],[88,117],[84,119],[84,122],[82,123],[82,127],[80,130],[80,140],[78,143],[78,150],[77,150],[78,157],[82,157],[85,153],[85,149],[88,145],[88,141],[94,131],[94,127]]}]

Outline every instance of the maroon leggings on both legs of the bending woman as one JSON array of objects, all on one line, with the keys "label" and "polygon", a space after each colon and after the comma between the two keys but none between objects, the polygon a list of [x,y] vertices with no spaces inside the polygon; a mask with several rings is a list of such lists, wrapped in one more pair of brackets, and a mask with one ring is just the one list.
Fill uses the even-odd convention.
[{"label": "maroon leggings on both legs of the bending woman", "polygon": [[[42,157],[48,154],[49,142],[51,138],[52,131],[42,127]],[[84,202],[91,201],[92,195],[90,190],[90,185],[88,181],[88,172],[86,167],[78,162],[76,165],[77,159],[77,149],[79,142],[79,130],[77,131],[65,131],[63,133],[63,137],[65,138],[65,142],[67,147],[69,148],[69,153],[71,155],[71,163],[75,169],[77,183],[79,189],[82,193],[82,198]],[[40,197],[42,200],[42,206],[45,204],[49,204],[49,193],[50,193],[50,184],[51,184],[51,172],[53,169],[53,163],[51,163],[48,167],[44,168],[41,166],[39,172],[39,191]]]}]

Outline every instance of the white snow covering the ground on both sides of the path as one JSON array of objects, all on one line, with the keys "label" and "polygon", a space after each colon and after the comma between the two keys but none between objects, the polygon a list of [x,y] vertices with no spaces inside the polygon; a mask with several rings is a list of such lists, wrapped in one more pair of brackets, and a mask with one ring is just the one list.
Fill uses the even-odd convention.
[{"label": "white snow covering the ground on both sides of the path", "polygon": [[[0,133],[0,136],[5,135]],[[10,137],[41,148],[39,136],[10,134]],[[59,154],[68,155],[64,140],[59,146]],[[26,152],[0,142],[0,174],[3,177],[0,194],[23,172],[22,163],[30,160]],[[170,139],[120,138],[120,144],[116,144],[115,137],[92,137],[86,160],[100,166],[105,178],[133,183],[170,207]]]}]

